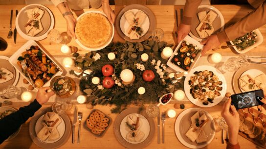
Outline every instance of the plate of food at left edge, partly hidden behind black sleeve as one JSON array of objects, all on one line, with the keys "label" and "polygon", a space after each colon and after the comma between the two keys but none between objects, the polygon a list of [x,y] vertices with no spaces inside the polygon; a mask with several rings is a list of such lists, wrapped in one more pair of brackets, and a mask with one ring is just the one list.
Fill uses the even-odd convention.
[{"label": "plate of food at left edge, partly hidden behind black sleeve", "polygon": [[[4,118],[5,116],[7,116],[7,115],[9,115],[9,114],[11,114],[13,112],[16,112],[16,111],[17,110],[15,108],[12,108],[12,107],[9,107],[9,106],[2,106],[2,107],[0,107],[0,119]],[[16,132],[11,134],[5,141],[10,141],[13,138],[15,138],[19,134],[19,132],[21,130],[21,127],[22,126],[20,126],[20,128]]]}]

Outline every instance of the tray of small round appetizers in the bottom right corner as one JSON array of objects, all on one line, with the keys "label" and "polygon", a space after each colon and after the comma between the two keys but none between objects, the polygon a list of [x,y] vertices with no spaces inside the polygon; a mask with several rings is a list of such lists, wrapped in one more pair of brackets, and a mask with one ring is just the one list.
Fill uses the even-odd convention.
[{"label": "tray of small round appetizers in the bottom right corner", "polygon": [[238,110],[239,134],[256,145],[266,148],[266,115],[254,108]]}]

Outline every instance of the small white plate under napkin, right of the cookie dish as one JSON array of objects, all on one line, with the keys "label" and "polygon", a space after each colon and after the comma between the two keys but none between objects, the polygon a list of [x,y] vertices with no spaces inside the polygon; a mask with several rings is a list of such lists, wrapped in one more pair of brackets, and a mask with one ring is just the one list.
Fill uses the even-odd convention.
[{"label": "small white plate under napkin, right of the cookie dish", "polygon": [[[142,131],[145,136],[139,141],[139,142],[131,142],[129,140],[127,140],[127,134],[130,132],[128,131],[128,127],[126,125],[126,122],[127,122],[127,118],[129,115],[132,115],[132,114],[136,114],[138,115],[139,117],[139,120],[141,120],[142,122],[142,125],[141,127],[139,128],[140,131]],[[137,113],[132,113],[132,114],[129,114],[127,115],[126,117],[123,118],[123,120],[121,121],[121,124],[120,124],[120,132],[121,132],[121,136],[129,143],[132,143],[132,144],[139,144],[141,142],[143,142],[144,140],[146,140],[146,138],[149,136],[149,133],[150,133],[150,124],[149,124],[149,121],[141,114],[137,114]]]}]

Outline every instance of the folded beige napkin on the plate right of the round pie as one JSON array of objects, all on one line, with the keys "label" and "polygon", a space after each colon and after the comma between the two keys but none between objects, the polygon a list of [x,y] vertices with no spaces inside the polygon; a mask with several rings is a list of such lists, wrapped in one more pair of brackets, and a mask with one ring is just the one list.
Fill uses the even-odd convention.
[{"label": "folded beige napkin on the plate right of the round pie", "polygon": [[[125,13],[125,18],[127,22],[130,24],[129,29],[127,30],[127,33],[130,32],[133,26],[140,27],[141,24],[146,19],[147,15],[143,13],[142,11],[138,11],[136,15],[133,14],[132,11],[128,11]],[[138,21],[134,21],[135,19],[138,19]],[[132,30],[129,34],[130,39],[138,39],[141,35],[139,35],[136,30]]]}]

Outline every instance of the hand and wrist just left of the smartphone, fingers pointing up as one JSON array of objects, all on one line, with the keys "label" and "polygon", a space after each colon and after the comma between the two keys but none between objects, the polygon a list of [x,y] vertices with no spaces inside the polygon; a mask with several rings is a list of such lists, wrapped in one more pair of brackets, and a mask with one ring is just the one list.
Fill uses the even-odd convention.
[{"label": "hand and wrist just left of the smartphone, fingers pointing up", "polygon": [[222,107],[222,117],[224,118],[229,133],[229,142],[230,144],[238,144],[237,135],[240,125],[239,113],[236,110],[236,107],[231,103],[232,99],[229,98]]}]

